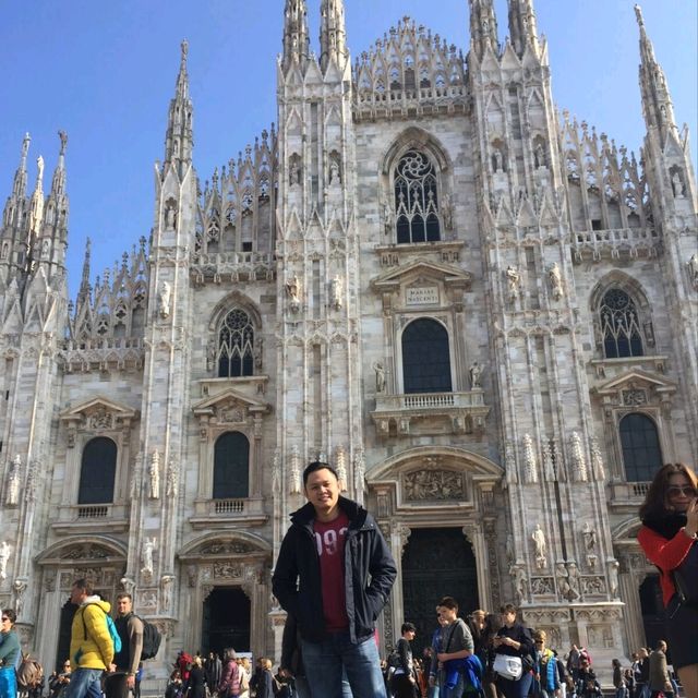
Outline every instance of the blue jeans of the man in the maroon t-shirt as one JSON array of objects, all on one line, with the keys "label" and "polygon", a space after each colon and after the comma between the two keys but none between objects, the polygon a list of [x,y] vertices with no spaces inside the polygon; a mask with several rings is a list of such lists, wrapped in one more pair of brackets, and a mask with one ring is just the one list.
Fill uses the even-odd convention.
[{"label": "blue jeans of the man in the maroon t-shirt", "polygon": [[335,633],[322,642],[302,640],[301,650],[313,696],[342,698],[346,672],[353,698],[387,698],[378,648],[372,635],[352,642],[349,633]]}]

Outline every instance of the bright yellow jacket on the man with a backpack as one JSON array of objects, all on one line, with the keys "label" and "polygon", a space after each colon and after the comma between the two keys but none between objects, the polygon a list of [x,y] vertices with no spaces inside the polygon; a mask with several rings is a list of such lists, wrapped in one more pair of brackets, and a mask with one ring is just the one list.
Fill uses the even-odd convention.
[{"label": "bright yellow jacket on the man with a backpack", "polygon": [[110,610],[108,601],[87,597],[75,612],[70,636],[70,663],[73,670],[104,671],[113,661],[113,642],[106,617]]}]

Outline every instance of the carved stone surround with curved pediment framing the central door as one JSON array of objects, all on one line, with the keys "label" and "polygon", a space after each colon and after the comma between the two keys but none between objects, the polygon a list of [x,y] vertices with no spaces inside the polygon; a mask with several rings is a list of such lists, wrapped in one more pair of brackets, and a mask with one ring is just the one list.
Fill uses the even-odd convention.
[{"label": "carved stone surround with curved pediment framing the central door", "polygon": [[[464,561],[474,561],[474,569],[464,574],[472,575],[477,585],[473,598],[479,600],[479,605],[495,607],[504,599],[505,570],[500,568],[500,551],[506,541],[506,521],[502,516],[507,509],[501,488],[503,476],[500,466],[479,454],[429,446],[392,456],[366,474],[369,509],[374,513],[398,568],[390,602],[383,614],[383,637],[388,643],[397,640],[399,627],[411,611],[406,609],[406,601],[412,603],[412,600],[409,589],[406,594],[405,580],[407,577],[409,582],[412,568],[404,568],[404,563],[413,532],[416,547],[410,549],[410,565],[414,565],[416,551],[420,554],[418,539],[432,540],[442,531],[444,541],[453,541],[459,550],[462,543]],[[455,530],[459,533],[457,541]],[[423,593],[443,595],[436,587],[430,589]],[[437,600],[434,598],[433,604]],[[421,605],[424,604],[420,602]]]}]

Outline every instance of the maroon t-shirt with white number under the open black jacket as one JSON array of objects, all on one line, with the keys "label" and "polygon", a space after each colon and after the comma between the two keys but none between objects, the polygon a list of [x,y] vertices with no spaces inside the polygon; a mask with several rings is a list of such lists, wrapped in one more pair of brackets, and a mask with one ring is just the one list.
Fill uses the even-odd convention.
[{"label": "maroon t-shirt with white number under the open black jacket", "polygon": [[313,522],[322,577],[323,613],[330,633],[349,627],[345,593],[345,542],[348,527],[349,518],[344,512],[328,524],[317,520]]}]

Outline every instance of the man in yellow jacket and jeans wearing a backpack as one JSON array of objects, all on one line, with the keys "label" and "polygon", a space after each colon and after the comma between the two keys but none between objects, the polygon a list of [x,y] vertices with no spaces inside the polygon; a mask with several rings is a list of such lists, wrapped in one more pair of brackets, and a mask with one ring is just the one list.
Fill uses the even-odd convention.
[{"label": "man in yellow jacket and jeans wearing a backpack", "polygon": [[111,604],[94,595],[86,579],[73,582],[70,600],[79,607],[70,636],[72,673],[65,698],[100,698],[101,674],[113,661],[113,642],[106,618]]}]

